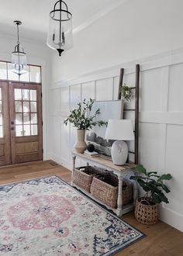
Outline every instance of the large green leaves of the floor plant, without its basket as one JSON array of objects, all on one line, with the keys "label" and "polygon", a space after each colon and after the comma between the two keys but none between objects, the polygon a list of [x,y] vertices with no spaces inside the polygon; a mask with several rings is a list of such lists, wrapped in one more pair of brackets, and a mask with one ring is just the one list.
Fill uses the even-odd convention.
[{"label": "large green leaves of the floor plant, without its basket", "polygon": [[140,175],[131,176],[130,179],[138,182],[144,192],[146,192],[144,199],[153,204],[168,203],[164,192],[169,193],[170,189],[167,188],[164,181],[170,180],[172,178],[171,175],[157,175],[157,171],[147,171],[142,164],[137,164],[136,171]]}]

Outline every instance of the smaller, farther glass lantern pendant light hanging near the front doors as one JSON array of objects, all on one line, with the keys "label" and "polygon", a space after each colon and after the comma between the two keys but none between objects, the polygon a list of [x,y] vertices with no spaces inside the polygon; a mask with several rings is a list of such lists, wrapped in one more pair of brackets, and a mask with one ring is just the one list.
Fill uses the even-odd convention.
[{"label": "smaller, farther glass lantern pendant light hanging near the front doors", "polygon": [[27,72],[26,53],[19,42],[19,25],[21,25],[22,22],[15,20],[14,23],[17,26],[17,44],[15,50],[12,52],[12,71],[21,75]]}]

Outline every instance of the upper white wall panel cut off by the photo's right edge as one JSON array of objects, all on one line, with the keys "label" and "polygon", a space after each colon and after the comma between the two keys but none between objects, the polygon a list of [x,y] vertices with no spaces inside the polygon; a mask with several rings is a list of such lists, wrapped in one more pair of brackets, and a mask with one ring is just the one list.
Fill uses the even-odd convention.
[{"label": "upper white wall panel cut off by the photo's right edge", "polygon": [[183,64],[172,65],[170,68],[170,88],[168,110],[183,112]]}]

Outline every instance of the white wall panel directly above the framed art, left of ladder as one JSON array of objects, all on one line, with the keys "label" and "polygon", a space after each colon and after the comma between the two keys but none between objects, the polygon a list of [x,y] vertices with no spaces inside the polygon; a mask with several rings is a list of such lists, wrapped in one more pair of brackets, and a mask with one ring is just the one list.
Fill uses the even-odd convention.
[{"label": "white wall panel directly above the framed art, left of ladder", "polygon": [[96,100],[112,100],[113,78],[96,81]]}]

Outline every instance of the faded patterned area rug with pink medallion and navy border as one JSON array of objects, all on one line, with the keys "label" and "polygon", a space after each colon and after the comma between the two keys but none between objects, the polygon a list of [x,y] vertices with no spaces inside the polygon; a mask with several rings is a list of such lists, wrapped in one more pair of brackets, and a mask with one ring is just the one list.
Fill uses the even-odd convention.
[{"label": "faded patterned area rug with pink medallion and navy border", "polygon": [[0,254],[112,255],[143,237],[56,176],[0,187]]}]

